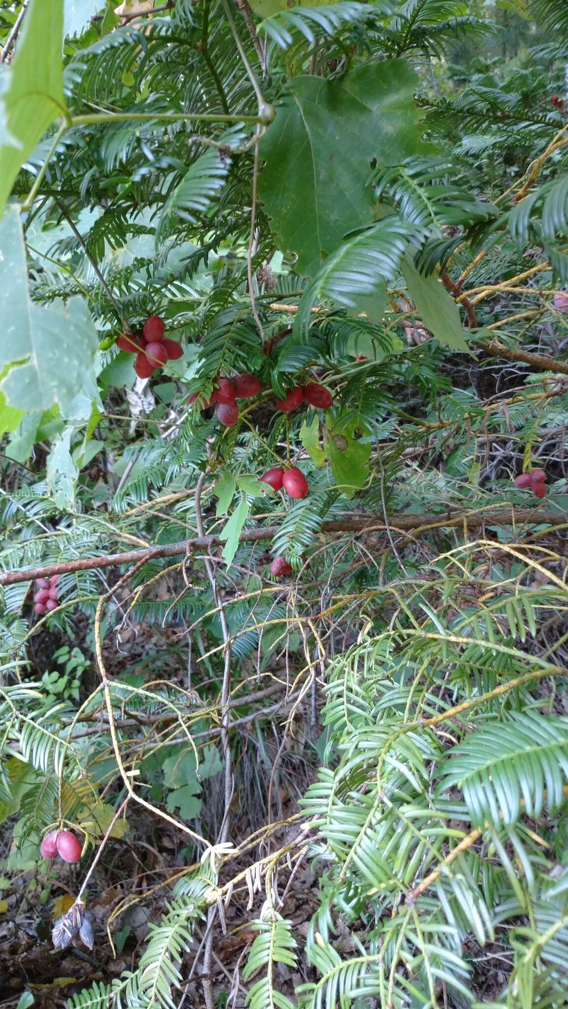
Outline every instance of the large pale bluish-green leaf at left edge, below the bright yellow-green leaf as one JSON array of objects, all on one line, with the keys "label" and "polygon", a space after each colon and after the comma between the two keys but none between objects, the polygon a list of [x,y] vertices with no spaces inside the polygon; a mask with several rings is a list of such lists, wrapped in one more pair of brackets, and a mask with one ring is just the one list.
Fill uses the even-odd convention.
[{"label": "large pale bluish-green leaf at left edge, below the bright yellow-green leaf", "polygon": [[81,298],[67,306],[40,308],[30,302],[25,249],[17,207],[0,221],[0,368],[9,368],[1,381],[10,406],[24,411],[48,410],[54,403],[63,413],[83,388],[93,368],[98,336]]}]

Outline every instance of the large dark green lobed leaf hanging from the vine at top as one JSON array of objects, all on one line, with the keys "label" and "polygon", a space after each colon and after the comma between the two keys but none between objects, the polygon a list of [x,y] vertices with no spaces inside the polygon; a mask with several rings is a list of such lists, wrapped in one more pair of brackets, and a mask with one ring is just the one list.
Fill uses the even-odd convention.
[{"label": "large dark green lobed leaf hanging from the vine at top", "polygon": [[421,150],[418,78],[404,60],[358,67],[338,81],[296,77],[260,143],[259,197],[277,247],[308,276],[343,236],[371,223],[371,161]]}]

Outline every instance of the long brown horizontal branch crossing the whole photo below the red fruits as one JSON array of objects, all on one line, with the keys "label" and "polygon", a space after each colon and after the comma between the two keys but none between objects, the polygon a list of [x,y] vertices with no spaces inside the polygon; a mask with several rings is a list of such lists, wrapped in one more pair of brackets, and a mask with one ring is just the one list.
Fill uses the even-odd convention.
[{"label": "long brown horizontal branch crossing the whole photo below the red fruits", "polygon": [[[502,508],[480,512],[455,512],[445,516],[435,515],[391,515],[388,528],[391,532],[421,532],[433,529],[446,529],[465,525],[467,529],[479,529],[485,525],[499,523],[503,526],[530,525],[538,523],[545,526],[566,525],[566,516],[558,512],[544,512],[540,509],[515,508],[503,504]],[[279,526],[262,526],[260,529],[247,529],[239,537],[240,543],[256,543],[258,540],[271,540],[279,531]],[[384,521],[375,516],[350,517],[335,522],[324,522],[320,532],[328,533],[372,533],[384,532]],[[45,564],[42,567],[5,571],[0,574],[0,585],[14,585],[16,582],[29,581],[32,578],[46,578],[52,574],[69,574],[73,571],[89,571],[99,567],[118,567],[120,564],[145,563],[156,557],[177,557],[189,550],[218,547],[224,541],[217,534],[196,536],[192,540],[182,540],[179,543],[164,543],[160,546],[146,547],[141,550],[128,550],[123,554],[106,554],[101,557],[85,557],[77,561],[62,561],[60,564]]]}]

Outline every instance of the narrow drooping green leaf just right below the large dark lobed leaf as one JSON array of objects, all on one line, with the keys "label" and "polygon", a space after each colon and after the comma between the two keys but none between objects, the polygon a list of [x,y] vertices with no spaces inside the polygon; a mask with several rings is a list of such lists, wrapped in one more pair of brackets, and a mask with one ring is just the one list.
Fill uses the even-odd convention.
[{"label": "narrow drooping green leaf just right below the large dark lobed leaf", "polygon": [[426,329],[447,347],[470,353],[463,335],[459,309],[438,279],[437,273],[430,273],[428,276],[419,273],[410,255],[403,260],[401,272]]}]

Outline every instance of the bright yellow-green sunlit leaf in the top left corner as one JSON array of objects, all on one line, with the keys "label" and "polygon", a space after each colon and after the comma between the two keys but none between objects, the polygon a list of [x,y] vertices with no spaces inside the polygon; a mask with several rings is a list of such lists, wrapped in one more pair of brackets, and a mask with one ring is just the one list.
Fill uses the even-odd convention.
[{"label": "bright yellow-green sunlit leaf in the top left corner", "polygon": [[0,214],[20,165],[53,119],[66,111],[63,36],[64,0],[30,0],[14,59],[2,75]]}]

